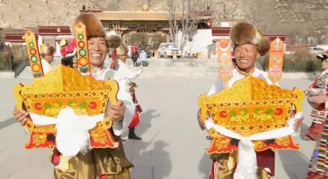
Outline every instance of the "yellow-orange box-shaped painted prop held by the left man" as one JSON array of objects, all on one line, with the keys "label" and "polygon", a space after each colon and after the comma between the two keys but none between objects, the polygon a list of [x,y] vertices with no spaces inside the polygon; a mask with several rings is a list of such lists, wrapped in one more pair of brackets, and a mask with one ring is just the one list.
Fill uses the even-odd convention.
[{"label": "yellow-orange box-shaped painted prop held by the left man", "polygon": [[[80,76],[75,69],[58,65],[43,78],[29,85],[16,85],[13,90],[17,109],[56,118],[61,109],[71,107],[77,115],[94,116],[104,114],[108,101],[117,102],[118,84],[115,80],[106,82],[91,76]],[[31,148],[50,148],[56,145],[55,125],[37,126],[28,118],[26,128],[30,131]],[[98,122],[89,130],[93,148],[115,148],[116,142],[109,132],[112,121],[109,118]]]}]

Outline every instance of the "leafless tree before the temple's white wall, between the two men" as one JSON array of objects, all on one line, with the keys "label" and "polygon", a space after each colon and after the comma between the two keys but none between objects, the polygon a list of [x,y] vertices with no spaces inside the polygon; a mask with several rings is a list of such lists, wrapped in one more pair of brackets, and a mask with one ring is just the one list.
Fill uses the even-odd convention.
[{"label": "leafless tree before the temple's white wall, between the two men", "polygon": [[205,5],[204,0],[167,0],[170,38],[181,51],[197,30]]}]

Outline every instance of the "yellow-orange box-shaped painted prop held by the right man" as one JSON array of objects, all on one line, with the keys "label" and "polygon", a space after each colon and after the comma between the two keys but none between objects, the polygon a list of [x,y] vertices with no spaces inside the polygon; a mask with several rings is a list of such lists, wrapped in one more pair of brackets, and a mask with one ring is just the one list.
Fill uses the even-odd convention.
[{"label": "yellow-orange box-shaped painted prop held by the right man", "polygon": [[[293,106],[302,111],[303,91],[282,89],[268,85],[266,81],[252,76],[235,82],[232,88],[225,88],[219,94],[202,95],[198,99],[202,119],[211,116],[214,124],[223,126],[249,137],[256,133],[288,126]],[[214,128],[209,130],[213,137],[208,153],[233,152],[238,149],[238,141],[220,135]],[[290,136],[268,141],[253,141],[256,151],[268,148],[298,149]]]}]

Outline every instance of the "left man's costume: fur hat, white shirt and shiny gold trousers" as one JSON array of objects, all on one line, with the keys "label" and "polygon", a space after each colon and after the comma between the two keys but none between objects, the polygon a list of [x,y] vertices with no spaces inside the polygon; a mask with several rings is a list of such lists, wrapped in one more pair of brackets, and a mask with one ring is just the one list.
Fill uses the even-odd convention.
[{"label": "left man's costume: fur hat, white shirt and shiny gold trousers", "polygon": [[[72,27],[78,22],[86,25],[88,37],[103,37],[107,40],[109,48],[117,48],[120,44],[120,37],[117,35],[107,36],[106,31],[100,20],[94,14],[79,15]],[[74,32],[74,29],[71,28]],[[119,43],[118,43],[119,42]],[[134,115],[134,105],[130,96],[129,81],[118,72],[106,68],[104,65],[98,69],[93,70],[91,75],[98,80],[114,79],[117,81],[119,91],[117,99],[124,102],[126,111],[122,121],[114,121],[112,128],[109,129],[113,138],[119,143],[117,148],[96,148],[87,152],[86,154],[78,153],[69,161],[69,169],[67,171],[60,170],[57,167],[54,170],[54,177],[59,178],[97,178],[100,179],[128,179],[130,178],[130,171],[133,168],[132,163],[126,158],[123,145],[120,140],[122,131],[128,127],[132,116]],[[57,150],[52,155],[52,162],[55,164]],[[60,165],[60,161],[59,161]]]}]

